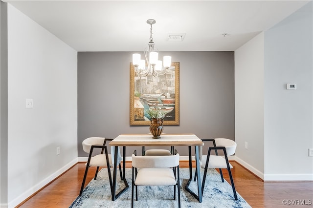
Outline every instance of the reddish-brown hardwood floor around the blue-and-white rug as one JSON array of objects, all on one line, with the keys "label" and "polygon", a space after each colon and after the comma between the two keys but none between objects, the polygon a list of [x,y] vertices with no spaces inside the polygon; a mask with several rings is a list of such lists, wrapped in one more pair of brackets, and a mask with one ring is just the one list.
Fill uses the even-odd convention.
[{"label": "reddish-brown hardwood floor around the blue-and-white rug", "polygon": [[[251,174],[238,163],[231,161],[236,191],[253,208],[313,207],[313,182],[266,182]],[[182,161],[180,167],[187,167]],[[127,163],[126,167],[131,167]],[[94,176],[95,168],[89,169],[86,185]],[[226,170],[227,171],[227,170]],[[224,178],[229,182],[228,173]],[[67,172],[21,203],[19,208],[68,208],[79,194],[85,172],[85,164],[78,163]],[[130,182],[129,182],[130,183]],[[289,205],[283,205],[288,200]],[[311,200],[311,201],[310,201]]]}]

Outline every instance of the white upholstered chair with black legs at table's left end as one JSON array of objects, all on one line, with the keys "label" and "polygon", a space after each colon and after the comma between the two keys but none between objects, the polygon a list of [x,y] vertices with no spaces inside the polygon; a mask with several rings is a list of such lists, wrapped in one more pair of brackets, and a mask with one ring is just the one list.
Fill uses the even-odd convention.
[{"label": "white upholstered chair with black legs at table's left end", "polygon": [[[87,173],[88,173],[89,167],[91,166],[97,167],[95,175],[94,175],[94,180],[97,179],[99,167],[107,167],[109,180],[110,180],[110,187],[112,188],[112,175],[111,175],[111,169],[110,169],[112,167],[112,157],[111,157],[111,154],[108,154],[108,148],[106,146],[106,142],[112,141],[112,140],[113,139],[108,139],[104,137],[89,137],[83,141],[83,150],[89,154],[89,157],[88,157],[87,163],[85,164],[86,170],[85,170],[84,179],[83,179],[82,186],[81,186],[80,193],[79,193],[80,196],[83,193]],[[93,152],[94,149],[99,149],[98,154],[92,154],[94,153]],[[107,164],[109,164],[109,166]],[[119,163],[119,172],[120,172],[121,180],[123,180],[122,169],[121,169],[120,163]]]}]

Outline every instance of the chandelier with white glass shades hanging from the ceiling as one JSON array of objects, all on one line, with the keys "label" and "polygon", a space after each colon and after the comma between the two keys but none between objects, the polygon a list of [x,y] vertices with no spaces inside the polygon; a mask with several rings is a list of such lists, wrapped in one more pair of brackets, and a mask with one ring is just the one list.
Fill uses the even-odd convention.
[{"label": "chandelier with white glass shades hanging from the ceiling", "polygon": [[163,56],[163,62],[158,60],[158,50],[152,38],[152,25],[156,21],[149,19],[147,23],[150,24],[150,42],[148,42],[148,47],[144,51],[146,60],[141,59],[139,53],[135,53],[133,54],[133,65],[138,74],[147,76],[151,73],[154,77],[157,77],[166,74],[167,69],[171,66],[172,57]]}]

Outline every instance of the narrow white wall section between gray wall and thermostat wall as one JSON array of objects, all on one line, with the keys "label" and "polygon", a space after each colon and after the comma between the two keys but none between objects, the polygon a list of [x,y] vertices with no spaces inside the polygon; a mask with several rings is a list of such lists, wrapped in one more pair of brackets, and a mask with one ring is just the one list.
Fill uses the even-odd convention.
[{"label": "narrow white wall section between gray wall and thermostat wall", "polygon": [[[235,141],[238,162],[263,178],[263,32],[235,51]],[[247,142],[247,149],[245,142]]]}]

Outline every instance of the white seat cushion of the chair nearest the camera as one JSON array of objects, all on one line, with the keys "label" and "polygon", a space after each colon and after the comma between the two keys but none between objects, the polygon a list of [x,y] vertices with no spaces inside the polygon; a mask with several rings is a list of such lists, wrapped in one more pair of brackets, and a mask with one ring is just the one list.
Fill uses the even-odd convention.
[{"label": "white seat cushion of the chair nearest the camera", "polygon": [[171,168],[140,168],[135,185],[140,186],[174,186],[176,180]]}]

